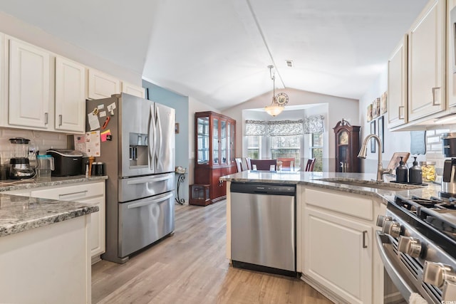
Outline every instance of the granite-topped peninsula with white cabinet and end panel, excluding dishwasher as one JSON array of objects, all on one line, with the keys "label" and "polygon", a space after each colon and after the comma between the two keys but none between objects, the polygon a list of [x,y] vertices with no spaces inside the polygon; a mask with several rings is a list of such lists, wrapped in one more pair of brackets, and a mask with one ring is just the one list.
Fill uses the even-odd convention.
[{"label": "granite-topped peninsula with white cabinet and end panel, excluding dishwasher", "polygon": [[[296,272],[336,303],[383,303],[383,263],[375,244],[388,200],[438,196],[440,186],[378,183],[375,174],[244,171],[232,183],[296,185]],[[227,258],[232,260],[232,193],[227,193]],[[240,224],[240,223],[236,223]]]}]

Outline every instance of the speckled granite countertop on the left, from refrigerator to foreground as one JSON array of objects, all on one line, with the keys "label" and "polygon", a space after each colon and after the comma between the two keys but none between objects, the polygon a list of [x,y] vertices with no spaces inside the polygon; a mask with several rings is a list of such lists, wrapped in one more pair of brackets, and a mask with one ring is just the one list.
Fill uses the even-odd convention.
[{"label": "speckled granite countertop on the left, from refrigerator to foreground", "polygon": [[[2,180],[0,181],[0,192],[105,179],[108,179],[108,177],[86,178],[84,175],[78,175],[75,177],[52,177],[51,182],[35,182],[33,179],[22,181]],[[37,199],[0,193],[0,237],[59,221],[66,221],[97,211],[99,211],[98,206],[75,201]]]}]

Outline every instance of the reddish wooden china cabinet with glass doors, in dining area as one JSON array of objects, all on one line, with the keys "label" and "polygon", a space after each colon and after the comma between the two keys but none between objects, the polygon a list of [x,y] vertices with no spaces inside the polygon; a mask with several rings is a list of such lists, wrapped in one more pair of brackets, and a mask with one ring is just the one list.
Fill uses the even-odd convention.
[{"label": "reddish wooden china cabinet with glass doors, in dining area", "polygon": [[237,172],[234,160],[236,120],[216,112],[195,113],[195,184],[189,204],[207,206],[225,199],[219,177]]}]

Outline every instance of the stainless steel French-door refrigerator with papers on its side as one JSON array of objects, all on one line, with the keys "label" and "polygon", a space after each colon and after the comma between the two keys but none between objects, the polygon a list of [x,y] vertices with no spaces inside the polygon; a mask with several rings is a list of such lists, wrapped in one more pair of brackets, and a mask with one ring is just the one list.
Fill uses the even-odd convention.
[{"label": "stainless steel French-door refrigerator with papers on its side", "polygon": [[125,263],[175,228],[175,110],[125,93],[88,100],[86,130],[91,129],[110,133],[101,136],[95,159],[105,163],[109,177],[101,257]]}]

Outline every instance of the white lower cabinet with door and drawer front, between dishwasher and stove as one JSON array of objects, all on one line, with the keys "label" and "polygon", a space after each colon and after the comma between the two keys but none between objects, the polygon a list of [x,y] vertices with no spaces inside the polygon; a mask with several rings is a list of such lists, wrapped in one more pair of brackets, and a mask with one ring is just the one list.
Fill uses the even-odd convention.
[{"label": "white lower cabinet with door and drawer front, between dishwasher and stove", "polygon": [[337,302],[383,303],[383,267],[374,242],[380,202],[331,190],[303,192],[304,281]]}]

